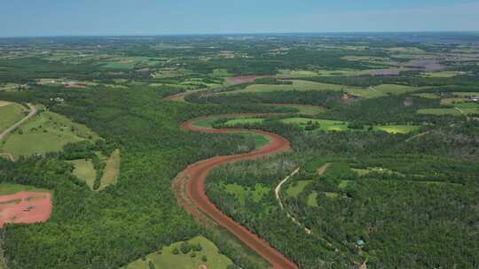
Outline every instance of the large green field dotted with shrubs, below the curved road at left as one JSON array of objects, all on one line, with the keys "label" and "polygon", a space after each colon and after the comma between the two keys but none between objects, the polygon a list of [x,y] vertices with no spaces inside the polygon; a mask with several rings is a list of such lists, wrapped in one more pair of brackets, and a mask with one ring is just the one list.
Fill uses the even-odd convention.
[{"label": "large green field dotted with shrubs, below the curved road at left", "polygon": [[6,138],[1,150],[15,158],[62,150],[68,142],[96,141],[88,127],[51,111],[40,112]]}]

